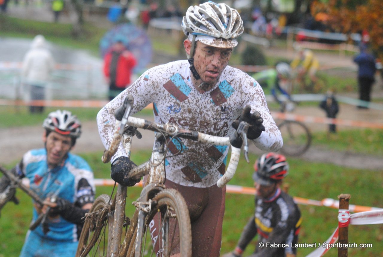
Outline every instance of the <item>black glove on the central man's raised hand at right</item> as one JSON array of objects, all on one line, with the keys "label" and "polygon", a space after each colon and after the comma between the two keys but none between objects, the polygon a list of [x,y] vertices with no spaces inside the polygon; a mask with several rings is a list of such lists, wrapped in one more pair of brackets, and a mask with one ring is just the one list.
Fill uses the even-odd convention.
[{"label": "black glove on the central man's raised hand at right", "polygon": [[235,129],[238,128],[239,123],[241,121],[246,121],[249,123],[249,130],[247,131],[248,139],[256,139],[259,138],[262,131],[265,131],[265,126],[262,124],[263,119],[258,111],[254,111],[254,113],[250,113],[251,107],[250,105],[246,105],[242,111],[241,116],[237,118],[231,126]]}]

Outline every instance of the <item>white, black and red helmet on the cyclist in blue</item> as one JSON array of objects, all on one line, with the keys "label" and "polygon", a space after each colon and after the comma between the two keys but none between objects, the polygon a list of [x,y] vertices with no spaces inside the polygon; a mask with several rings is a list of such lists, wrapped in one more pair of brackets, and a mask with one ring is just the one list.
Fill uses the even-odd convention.
[{"label": "white, black and red helmet on the cyclist in blue", "polygon": [[57,110],[49,113],[48,117],[44,119],[43,127],[72,138],[79,138],[81,135],[79,119],[66,110]]}]

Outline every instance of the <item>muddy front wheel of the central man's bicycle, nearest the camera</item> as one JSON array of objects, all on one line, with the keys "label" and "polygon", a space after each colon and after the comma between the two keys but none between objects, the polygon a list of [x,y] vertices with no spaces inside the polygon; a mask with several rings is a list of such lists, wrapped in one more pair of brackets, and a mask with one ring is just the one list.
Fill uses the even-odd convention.
[{"label": "muddy front wheel of the central man's bicycle, nearest the camera", "polygon": [[137,233],[135,247],[141,253],[138,256],[180,253],[180,256],[191,257],[190,216],[182,195],[175,189],[164,189],[152,202],[155,205],[146,215],[145,226]]}]

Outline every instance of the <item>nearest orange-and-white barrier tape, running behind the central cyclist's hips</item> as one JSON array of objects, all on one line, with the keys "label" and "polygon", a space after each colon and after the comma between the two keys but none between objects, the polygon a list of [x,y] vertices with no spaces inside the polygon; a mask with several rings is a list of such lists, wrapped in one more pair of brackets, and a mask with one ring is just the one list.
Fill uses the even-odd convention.
[{"label": "nearest orange-and-white barrier tape, running behind the central cyclist's hips", "polygon": [[[94,180],[96,186],[113,186],[115,184],[114,180],[111,178],[95,178]],[[142,187],[142,181],[134,185],[135,187]],[[233,194],[243,194],[243,195],[255,195],[254,187],[242,187],[237,185],[226,185],[226,192]],[[315,205],[315,206],[326,206],[334,209],[339,209],[339,201],[336,201],[331,198],[323,199],[322,201],[311,200],[301,197],[293,197],[294,201],[301,205]],[[382,210],[381,208],[368,207],[361,205],[349,205],[349,210],[352,212],[362,212],[362,211],[373,211],[373,210]]]}]

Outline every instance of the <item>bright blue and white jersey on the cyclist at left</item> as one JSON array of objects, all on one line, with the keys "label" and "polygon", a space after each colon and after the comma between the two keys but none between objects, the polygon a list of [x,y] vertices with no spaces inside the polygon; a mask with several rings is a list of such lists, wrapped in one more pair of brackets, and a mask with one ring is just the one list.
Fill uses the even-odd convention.
[{"label": "bright blue and white jersey on the cyclist at left", "polygon": [[[68,153],[67,158],[58,167],[49,169],[46,163],[46,149],[35,149],[26,152],[22,161],[16,165],[16,174],[29,180],[30,188],[41,199],[56,195],[59,198],[82,207],[87,203],[93,203],[95,185],[93,172],[89,165],[81,157]],[[34,222],[38,213],[33,208]],[[33,233],[43,239],[56,241],[77,242],[79,237],[78,224],[70,223],[60,215],[48,218],[49,232],[43,233],[42,226],[34,229]],[[28,240],[28,238],[27,238]]]}]

